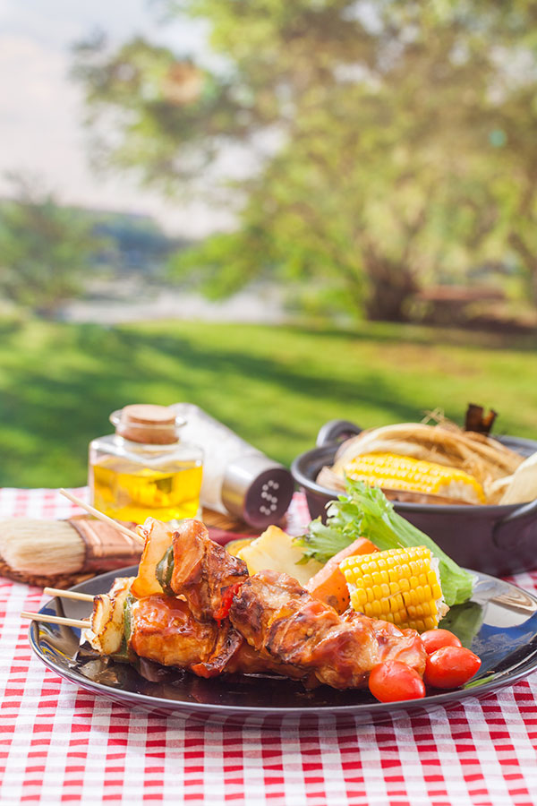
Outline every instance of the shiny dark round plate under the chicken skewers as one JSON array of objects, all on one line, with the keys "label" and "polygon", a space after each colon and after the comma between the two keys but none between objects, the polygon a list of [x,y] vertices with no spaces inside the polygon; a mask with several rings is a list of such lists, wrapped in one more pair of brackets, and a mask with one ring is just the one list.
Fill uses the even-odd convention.
[{"label": "shiny dark round plate under the chicken skewers", "polygon": [[[73,590],[104,593],[116,576],[135,572],[135,566],[112,571]],[[337,725],[382,722],[455,706],[466,697],[484,697],[537,668],[537,598],[501,579],[482,573],[476,577],[472,601],[453,607],[442,627],[471,647],[482,658],[482,667],[464,688],[430,690],[420,700],[380,703],[367,691],[328,686],[306,691],[298,682],[264,675],[203,680],[144,661],[135,668],[80,647],[80,630],[44,622],[31,622],[30,644],[44,664],[83,689],[162,716],[256,727],[311,727],[327,719]],[[52,599],[40,612],[81,619],[89,611],[86,602]]]}]

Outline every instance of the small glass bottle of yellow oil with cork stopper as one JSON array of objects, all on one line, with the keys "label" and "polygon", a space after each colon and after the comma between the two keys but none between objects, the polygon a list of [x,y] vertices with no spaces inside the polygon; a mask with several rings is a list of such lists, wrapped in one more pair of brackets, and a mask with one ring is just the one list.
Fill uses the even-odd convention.
[{"label": "small glass bottle of yellow oil with cork stopper", "polygon": [[184,421],[162,406],[126,406],[110,416],[115,434],[90,443],[93,506],[136,523],[200,511],[202,451],[179,439]]}]

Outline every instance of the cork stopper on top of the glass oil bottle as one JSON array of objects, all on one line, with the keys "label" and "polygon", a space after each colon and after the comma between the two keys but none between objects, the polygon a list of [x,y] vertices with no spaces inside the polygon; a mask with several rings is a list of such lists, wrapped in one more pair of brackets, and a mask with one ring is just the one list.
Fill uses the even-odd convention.
[{"label": "cork stopper on top of the glass oil bottle", "polygon": [[113,412],[110,422],[115,425],[115,433],[125,440],[149,445],[169,445],[178,442],[178,431],[185,421],[167,406],[133,403]]}]

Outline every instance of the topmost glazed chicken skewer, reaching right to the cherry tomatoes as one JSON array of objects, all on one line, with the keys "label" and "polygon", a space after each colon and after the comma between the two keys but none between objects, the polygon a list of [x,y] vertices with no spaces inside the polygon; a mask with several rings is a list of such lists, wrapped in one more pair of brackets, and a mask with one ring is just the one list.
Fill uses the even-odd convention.
[{"label": "topmost glazed chicken skewer, reaching right to the cherry tomatoes", "polygon": [[372,666],[386,660],[423,673],[425,650],[415,630],[354,611],[339,616],[286,574],[249,577],[245,564],[213,543],[198,520],[183,521],[173,533],[158,578],[163,590],[186,599],[199,622],[224,623],[229,613],[260,662],[292,667],[294,677],[313,674],[337,689],[362,688]]}]

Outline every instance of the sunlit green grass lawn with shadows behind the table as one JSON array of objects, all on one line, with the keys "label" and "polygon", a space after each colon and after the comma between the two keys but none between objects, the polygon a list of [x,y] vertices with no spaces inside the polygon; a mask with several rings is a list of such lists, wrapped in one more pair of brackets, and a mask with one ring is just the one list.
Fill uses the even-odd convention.
[{"label": "sunlit green grass lawn with shadows behind the table", "polygon": [[288,464],[320,425],[468,402],[537,438],[537,339],[363,323],[351,331],[152,322],[0,325],[0,484],[85,484],[88,442],[133,402],[188,400]]}]

